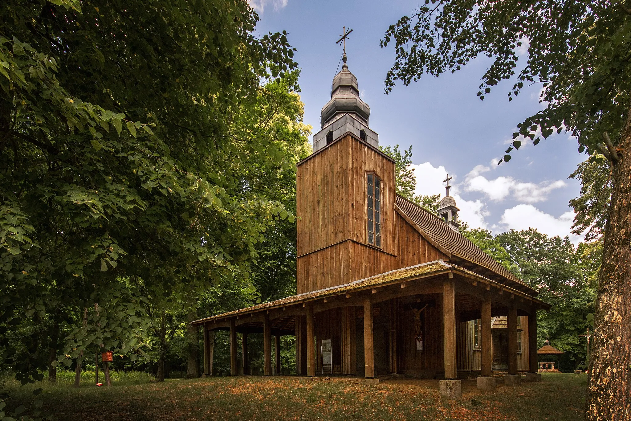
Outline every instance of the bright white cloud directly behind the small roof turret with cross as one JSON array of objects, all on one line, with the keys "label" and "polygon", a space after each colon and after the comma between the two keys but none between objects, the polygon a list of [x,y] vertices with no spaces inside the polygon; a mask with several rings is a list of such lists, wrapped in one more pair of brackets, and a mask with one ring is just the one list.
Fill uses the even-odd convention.
[{"label": "bright white cloud directly behind the small roof turret with cross", "polygon": [[[478,167],[483,166],[478,165]],[[476,169],[478,167],[476,167]],[[445,167],[442,165],[434,167],[431,163],[425,162],[418,165],[411,165],[411,168],[414,170],[414,175],[416,176],[416,190],[414,192],[416,196],[444,194],[445,185],[442,181],[445,179],[445,174],[447,174]],[[454,177],[454,180],[456,179],[454,175],[452,175],[452,177]],[[452,182],[454,180],[452,180]],[[490,214],[485,210],[484,204],[480,200],[465,200],[457,194],[457,191],[457,186],[452,187],[451,195],[456,199],[456,205],[460,209],[458,213],[459,220],[468,223],[472,228],[488,228],[488,224],[485,222],[484,218]]]}]

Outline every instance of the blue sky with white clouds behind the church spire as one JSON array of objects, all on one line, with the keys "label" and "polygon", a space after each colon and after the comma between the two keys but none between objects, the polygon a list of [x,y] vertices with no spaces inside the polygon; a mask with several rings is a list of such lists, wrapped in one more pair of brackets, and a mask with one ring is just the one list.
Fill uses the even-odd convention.
[{"label": "blue sky with white clouds behind the church spire", "polygon": [[[574,213],[568,201],[579,195],[580,184],[568,176],[586,159],[574,138],[562,132],[537,146],[525,141],[510,163],[497,165],[517,124],[543,108],[540,85],[524,88],[509,103],[514,82],[504,81],[480,101],[476,93],[491,62],[481,57],[454,74],[423,75],[410,86],[399,82],[386,95],[384,80],[394,49],[380,48],[379,40],[389,25],[411,15],[418,0],[250,4],[261,18],[257,32],[286,30],[297,49],[304,120],[314,127],[312,134],[320,129],[322,106],[331,98],[331,82],[341,69],[342,49],[336,41],[342,27],[350,27],[347,64],[357,76],[360,97],[370,106],[369,126],[382,146],[412,146],[416,194],[444,195],[442,180],[449,173],[459,218],[470,227],[493,234],[533,227],[548,235],[568,235],[574,244],[582,240],[570,232]],[[522,55],[521,61],[525,59]]]}]

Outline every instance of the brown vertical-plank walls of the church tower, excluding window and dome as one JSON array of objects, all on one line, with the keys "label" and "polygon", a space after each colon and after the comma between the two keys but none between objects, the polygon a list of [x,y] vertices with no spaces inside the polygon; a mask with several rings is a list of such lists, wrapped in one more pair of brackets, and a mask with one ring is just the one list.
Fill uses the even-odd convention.
[{"label": "brown vertical-plank walls of the church tower, excluding window and dome", "polygon": [[[382,247],[367,244],[367,171],[382,180]],[[394,162],[345,136],[298,165],[297,292],[394,269]]]}]

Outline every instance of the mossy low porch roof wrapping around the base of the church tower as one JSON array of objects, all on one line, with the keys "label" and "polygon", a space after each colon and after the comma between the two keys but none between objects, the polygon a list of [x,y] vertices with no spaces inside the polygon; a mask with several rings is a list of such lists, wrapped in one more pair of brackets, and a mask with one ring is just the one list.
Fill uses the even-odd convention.
[{"label": "mossy low porch roof wrapping around the base of the church tower", "polygon": [[231,317],[240,316],[242,314],[254,314],[262,311],[269,311],[270,309],[276,309],[279,307],[286,307],[289,305],[297,305],[303,304],[305,302],[317,300],[317,299],[326,299],[327,297],[333,297],[335,295],[346,294],[349,292],[360,292],[362,290],[369,290],[375,287],[383,287],[385,285],[392,285],[396,283],[403,283],[406,281],[411,281],[419,278],[427,278],[430,276],[436,276],[447,273],[458,273],[466,278],[471,278],[473,280],[480,280],[483,283],[487,283],[489,285],[493,285],[500,290],[504,290],[509,292],[510,294],[517,295],[522,298],[527,298],[531,300],[533,303],[538,304],[543,309],[549,309],[550,305],[534,298],[532,295],[526,294],[517,290],[516,288],[508,287],[499,282],[490,280],[485,278],[478,273],[469,271],[465,268],[461,268],[456,264],[446,263],[442,259],[431,261],[427,263],[417,264],[415,266],[410,266],[408,268],[392,270],[389,272],[380,273],[379,275],[370,276],[369,278],[364,278],[357,280],[355,282],[346,283],[344,285],[338,285],[336,287],[324,288],[321,290],[305,292],[303,294],[292,295],[290,297],[285,297],[280,300],[274,300],[270,302],[264,302],[257,305],[252,305],[251,307],[245,307],[243,309],[226,312],[223,314],[217,314],[216,316],[205,317],[204,319],[199,319],[191,322],[191,324],[203,324],[209,321],[218,321],[220,319],[227,319]]}]

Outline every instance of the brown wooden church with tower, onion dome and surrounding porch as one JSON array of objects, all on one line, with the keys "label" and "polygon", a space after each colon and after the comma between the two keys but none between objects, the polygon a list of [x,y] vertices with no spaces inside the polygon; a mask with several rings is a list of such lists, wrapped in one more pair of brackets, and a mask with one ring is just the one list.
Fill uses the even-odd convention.
[{"label": "brown wooden church with tower, onion dome and surrounding porch", "polygon": [[203,326],[204,374],[216,330],[230,331],[233,375],[247,374],[248,335],[261,333],[265,375],[281,371],[272,335],[277,350],[295,335],[306,376],[536,373],[536,312],[549,305],[459,234],[449,177],[440,217],[396,194],[394,160],[343,61],[314,152],[297,164],[297,295],[193,322]]}]

